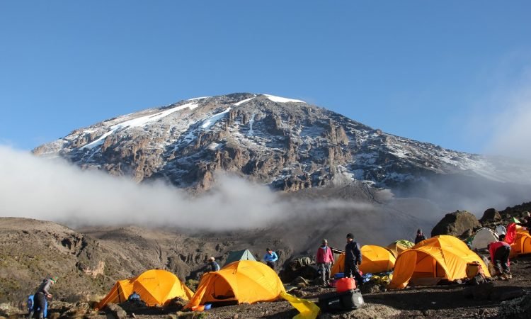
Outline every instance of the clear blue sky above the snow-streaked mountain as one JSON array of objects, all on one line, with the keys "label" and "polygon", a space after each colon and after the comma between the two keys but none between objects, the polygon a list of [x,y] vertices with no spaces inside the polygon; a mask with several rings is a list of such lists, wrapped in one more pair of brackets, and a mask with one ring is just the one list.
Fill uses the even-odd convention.
[{"label": "clear blue sky above the snow-streaked mountain", "polygon": [[125,113],[251,92],[491,152],[507,130],[489,128],[531,113],[530,13],[530,1],[4,0],[0,144],[31,150]]}]

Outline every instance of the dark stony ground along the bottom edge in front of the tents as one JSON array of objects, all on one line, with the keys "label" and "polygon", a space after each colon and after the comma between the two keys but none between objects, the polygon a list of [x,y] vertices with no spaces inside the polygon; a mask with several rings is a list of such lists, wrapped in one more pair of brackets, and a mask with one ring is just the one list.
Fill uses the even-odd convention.
[{"label": "dark stony ground along the bottom edge in front of the tents", "polygon": [[[353,311],[321,313],[319,318],[528,318],[526,307],[531,301],[531,256],[513,260],[513,278],[495,280],[491,284],[469,286],[447,284],[408,287],[399,291],[363,293],[365,306]],[[362,291],[367,287],[362,287]],[[310,301],[333,291],[319,286],[307,286],[294,295]],[[256,303],[212,308],[204,313],[182,312],[177,308],[118,307],[96,312],[88,303],[52,301],[49,318],[108,318],[113,313],[122,318],[293,318],[297,310],[287,301]],[[527,310],[526,310],[527,309]],[[2,305],[0,315],[15,318],[23,311]]]}]

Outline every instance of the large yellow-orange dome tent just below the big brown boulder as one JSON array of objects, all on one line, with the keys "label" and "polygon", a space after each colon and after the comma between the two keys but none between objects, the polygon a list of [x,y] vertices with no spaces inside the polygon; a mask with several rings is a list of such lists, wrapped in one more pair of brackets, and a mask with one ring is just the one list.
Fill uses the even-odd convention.
[{"label": "large yellow-orange dome tent just below the big brown boulder", "polygon": [[461,240],[448,235],[431,237],[399,254],[388,288],[403,289],[416,278],[466,278],[467,262],[479,262],[485,275],[491,276],[481,257]]}]

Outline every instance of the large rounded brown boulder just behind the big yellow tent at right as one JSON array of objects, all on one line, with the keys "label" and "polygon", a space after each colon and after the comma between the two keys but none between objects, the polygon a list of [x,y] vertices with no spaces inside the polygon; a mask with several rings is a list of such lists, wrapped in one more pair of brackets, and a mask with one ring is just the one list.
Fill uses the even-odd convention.
[{"label": "large rounded brown boulder just behind the big yellow tent at right", "polygon": [[459,237],[468,230],[481,227],[476,216],[467,211],[447,213],[440,222],[431,230],[431,235],[452,235]]}]

